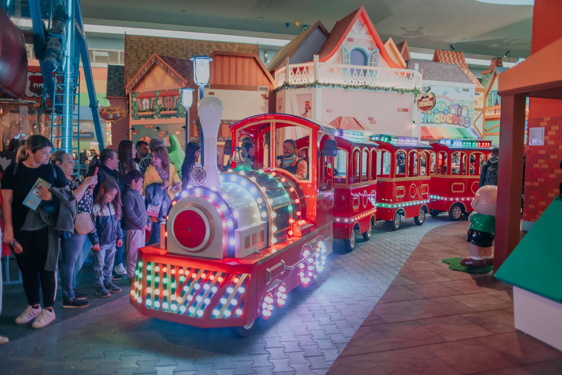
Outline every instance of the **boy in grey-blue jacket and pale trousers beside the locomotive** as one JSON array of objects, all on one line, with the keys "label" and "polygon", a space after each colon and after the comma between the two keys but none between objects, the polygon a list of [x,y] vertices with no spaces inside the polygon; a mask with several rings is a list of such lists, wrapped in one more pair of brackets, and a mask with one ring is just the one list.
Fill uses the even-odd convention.
[{"label": "boy in grey-blue jacket and pale trousers beside the locomotive", "polygon": [[142,196],[143,175],[137,170],[127,172],[125,181],[129,185],[123,197],[123,229],[127,247],[127,278],[133,278],[137,263],[138,249],[145,244],[146,230],[151,230],[152,222],[146,214]]}]

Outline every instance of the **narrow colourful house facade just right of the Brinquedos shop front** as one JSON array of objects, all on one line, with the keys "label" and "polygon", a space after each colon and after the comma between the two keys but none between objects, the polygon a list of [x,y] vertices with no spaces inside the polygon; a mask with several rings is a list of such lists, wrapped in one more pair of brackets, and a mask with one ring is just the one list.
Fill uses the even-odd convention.
[{"label": "narrow colourful house facade just right of the Brinquedos shop front", "polygon": [[[500,85],[500,74],[507,70],[501,57],[495,57],[490,63],[490,69],[482,72],[484,85],[484,139],[498,144],[500,141],[501,97],[497,94]],[[525,107],[525,120],[529,116],[529,99]]]}]

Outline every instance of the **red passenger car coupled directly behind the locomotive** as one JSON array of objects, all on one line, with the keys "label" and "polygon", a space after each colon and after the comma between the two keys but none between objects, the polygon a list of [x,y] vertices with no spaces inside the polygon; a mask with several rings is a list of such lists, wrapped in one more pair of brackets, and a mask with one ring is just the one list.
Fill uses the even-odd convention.
[{"label": "red passenger car coupled directly behind the locomotive", "polygon": [[377,148],[362,132],[338,130],[334,169],[334,239],[355,248],[357,232],[370,240],[377,221]]}]

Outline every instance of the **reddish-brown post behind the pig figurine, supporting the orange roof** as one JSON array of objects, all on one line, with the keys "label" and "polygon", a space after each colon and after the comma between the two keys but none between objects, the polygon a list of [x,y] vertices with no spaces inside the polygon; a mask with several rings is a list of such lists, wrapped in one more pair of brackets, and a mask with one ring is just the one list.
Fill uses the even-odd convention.
[{"label": "reddish-brown post behind the pig figurine, supporting the orange roof", "polygon": [[519,243],[526,99],[525,94],[501,98],[494,272]]}]

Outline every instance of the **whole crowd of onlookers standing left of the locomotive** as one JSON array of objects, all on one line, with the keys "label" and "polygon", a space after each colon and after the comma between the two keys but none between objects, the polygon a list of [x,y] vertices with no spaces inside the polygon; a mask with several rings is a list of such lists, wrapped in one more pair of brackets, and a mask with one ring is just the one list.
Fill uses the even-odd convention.
[{"label": "whole crowd of onlookers standing left of the locomotive", "polygon": [[[52,153],[53,145],[42,135],[31,135],[24,144],[10,142],[17,156],[2,173],[0,236],[4,255],[13,251],[28,300],[17,324],[33,321],[31,326],[40,328],[55,319],[57,264],[62,307],[89,305],[89,295],[75,290],[74,281],[86,237],[94,254],[96,295],[119,293],[114,281],[133,278],[138,249],[160,241],[166,208],[201,165],[200,145],[188,143],[180,179],[166,146],[162,138],[137,144],[123,140],[117,150],[84,149],[73,157],[63,150]],[[82,180],[75,176],[76,162],[87,164]],[[44,184],[36,184],[38,179]],[[34,209],[30,191],[40,200]],[[0,273],[0,309],[1,280]],[[0,336],[0,344],[6,342]]]}]

